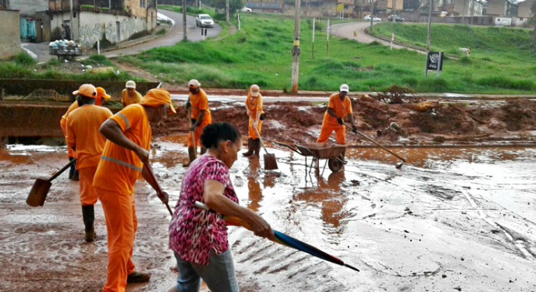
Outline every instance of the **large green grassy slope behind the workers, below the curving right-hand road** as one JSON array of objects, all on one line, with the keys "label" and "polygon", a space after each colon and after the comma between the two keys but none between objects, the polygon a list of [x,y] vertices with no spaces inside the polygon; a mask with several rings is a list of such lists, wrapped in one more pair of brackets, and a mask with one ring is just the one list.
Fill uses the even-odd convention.
[{"label": "large green grassy slope behind the workers, below the curving right-hand road", "polygon": [[[264,89],[290,88],[290,49],[294,36],[292,16],[242,13],[241,19],[242,30],[227,38],[180,42],[170,47],[151,49],[125,60],[161,76],[166,82],[180,85],[186,84],[189,79],[198,79],[203,86],[212,88],[245,89],[252,83]],[[322,19],[322,22],[325,24],[326,19]],[[381,26],[383,24],[376,27]],[[473,32],[475,43],[486,43],[491,35],[494,41],[503,38],[502,35],[494,35],[495,28],[482,29],[487,30],[485,34]],[[471,47],[471,44],[459,46],[445,41],[445,44],[450,44],[446,49],[454,53],[458,47],[471,47],[476,52],[469,59],[445,60],[441,78],[436,79],[435,72],[428,77],[423,76],[426,58],[423,54],[406,49],[391,51],[377,43],[360,44],[331,37],[329,58],[326,58],[325,31],[316,32],[313,59],[311,27],[304,17],[301,22],[299,89],[336,91],[341,83],[348,83],[350,90],[355,91],[368,91],[370,88],[382,90],[397,85],[418,92],[536,92],[534,55],[530,55],[533,53],[524,45],[528,33],[512,31],[508,35],[509,38],[494,45],[499,49],[503,44],[511,44],[500,54],[493,51],[487,54],[486,50],[480,52],[480,47]],[[519,39],[514,36],[519,36]],[[512,51],[514,44],[519,49]]]}]

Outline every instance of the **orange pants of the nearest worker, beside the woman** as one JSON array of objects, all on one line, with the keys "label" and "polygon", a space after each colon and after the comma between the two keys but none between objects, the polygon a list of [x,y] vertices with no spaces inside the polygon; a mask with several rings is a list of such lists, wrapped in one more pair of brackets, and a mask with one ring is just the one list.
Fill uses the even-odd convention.
[{"label": "orange pants of the nearest worker, beside the woman", "polygon": [[125,292],[127,275],[134,272],[134,238],[138,229],[134,194],[95,188],[108,231],[108,272],[103,292]]}]

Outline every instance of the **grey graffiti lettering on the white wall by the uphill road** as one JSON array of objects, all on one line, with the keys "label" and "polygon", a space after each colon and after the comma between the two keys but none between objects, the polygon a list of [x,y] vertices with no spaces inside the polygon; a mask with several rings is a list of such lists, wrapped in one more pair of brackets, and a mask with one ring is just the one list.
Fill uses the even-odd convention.
[{"label": "grey graffiti lettering on the white wall by the uphill road", "polygon": [[[134,19],[127,17],[119,22],[119,41],[127,40],[131,35],[145,29],[145,19]],[[103,22],[97,24],[86,24],[79,29],[80,42],[86,47],[93,47],[97,40],[102,40],[106,35],[107,40],[112,43],[118,39],[117,22]]]}]

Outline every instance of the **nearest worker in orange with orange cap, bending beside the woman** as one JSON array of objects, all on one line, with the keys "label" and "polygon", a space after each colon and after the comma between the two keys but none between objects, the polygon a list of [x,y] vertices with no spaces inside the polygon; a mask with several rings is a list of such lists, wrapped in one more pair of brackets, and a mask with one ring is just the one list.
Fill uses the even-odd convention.
[{"label": "nearest worker in orange with orange cap, bending beside the woman", "polygon": [[[108,231],[108,272],[103,291],[125,291],[129,282],[148,282],[150,275],[135,271],[132,248],[138,220],[134,202],[134,183],[140,174],[156,189],[148,172],[151,127],[175,113],[169,92],[150,90],[139,104],[123,108],[100,127],[108,139],[93,179],[102,203]],[[157,193],[162,202],[165,192]]]}]

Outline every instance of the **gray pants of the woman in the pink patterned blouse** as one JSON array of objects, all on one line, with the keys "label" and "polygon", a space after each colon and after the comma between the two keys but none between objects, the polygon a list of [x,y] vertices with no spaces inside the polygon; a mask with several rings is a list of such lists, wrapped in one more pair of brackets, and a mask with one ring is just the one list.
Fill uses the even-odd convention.
[{"label": "gray pants of the woman in the pink patterned blouse", "polygon": [[178,254],[175,254],[175,259],[179,270],[175,286],[178,291],[198,292],[203,279],[212,292],[239,292],[230,249],[221,254],[210,250],[207,266],[183,261]]}]

